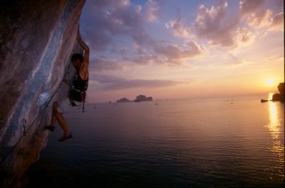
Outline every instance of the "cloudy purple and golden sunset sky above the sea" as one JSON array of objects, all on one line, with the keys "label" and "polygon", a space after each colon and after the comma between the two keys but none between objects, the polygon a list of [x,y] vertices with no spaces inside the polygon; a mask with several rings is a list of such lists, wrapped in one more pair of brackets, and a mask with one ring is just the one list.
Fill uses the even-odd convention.
[{"label": "cloudy purple and golden sunset sky above the sea", "polygon": [[88,100],[278,92],[283,0],[87,0]]}]

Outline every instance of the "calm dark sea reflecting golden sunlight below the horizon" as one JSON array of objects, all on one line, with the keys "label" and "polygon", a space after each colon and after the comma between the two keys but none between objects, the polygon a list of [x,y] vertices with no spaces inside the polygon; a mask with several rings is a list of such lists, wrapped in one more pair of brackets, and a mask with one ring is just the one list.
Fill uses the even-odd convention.
[{"label": "calm dark sea reflecting golden sunlight below the horizon", "polygon": [[28,187],[284,187],[284,103],[267,97],[72,110],[73,138],[51,132]]}]

